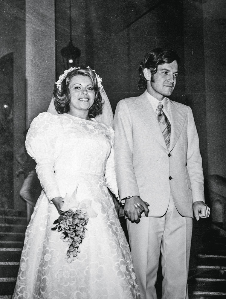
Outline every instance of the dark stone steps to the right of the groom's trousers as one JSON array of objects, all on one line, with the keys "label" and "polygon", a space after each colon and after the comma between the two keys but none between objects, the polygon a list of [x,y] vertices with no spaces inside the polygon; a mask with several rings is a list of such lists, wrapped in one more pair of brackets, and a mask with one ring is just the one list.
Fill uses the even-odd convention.
[{"label": "dark stone steps to the right of the groom's trousers", "polygon": [[[196,228],[198,224],[191,248],[195,267],[189,272],[189,299],[226,298],[226,232],[208,221]],[[202,244],[197,242],[195,250],[197,237]]]}]

